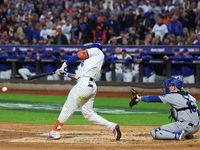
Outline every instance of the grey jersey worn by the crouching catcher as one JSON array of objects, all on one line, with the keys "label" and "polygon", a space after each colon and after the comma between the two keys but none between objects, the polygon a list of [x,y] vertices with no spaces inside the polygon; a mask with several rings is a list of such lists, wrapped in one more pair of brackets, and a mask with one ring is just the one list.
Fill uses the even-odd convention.
[{"label": "grey jersey worn by the crouching catcher", "polygon": [[[198,112],[196,109],[186,109],[186,110],[182,110],[182,111],[176,111],[176,109],[180,109],[180,108],[184,108],[184,107],[188,107],[188,100],[187,98],[189,98],[189,100],[191,101],[191,105],[195,105],[196,104],[196,99],[192,96],[192,95],[181,95],[180,93],[174,92],[174,93],[170,93],[170,94],[166,94],[163,96],[159,96],[159,98],[161,99],[161,101],[164,104],[170,104],[172,106],[173,112],[174,112],[174,117],[176,118],[176,120],[180,121],[180,122],[188,122],[188,123],[192,123],[194,125],[198,124]],[[197,106],[198,109],[198,106]]]}]

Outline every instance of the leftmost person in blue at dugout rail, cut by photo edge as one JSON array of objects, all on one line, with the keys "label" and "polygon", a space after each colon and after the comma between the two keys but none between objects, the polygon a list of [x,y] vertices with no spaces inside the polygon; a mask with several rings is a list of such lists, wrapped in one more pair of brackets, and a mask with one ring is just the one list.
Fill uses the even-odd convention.
[{"label": "leftmost person in blue at dugout rail, cut by photo edge", "polygon": [[3,62],[9,58],[9,54],[6,52],[5,47],[1,47],[0,51],[0,79],[10,79],[11,78],[11,65],[10,62]]}]

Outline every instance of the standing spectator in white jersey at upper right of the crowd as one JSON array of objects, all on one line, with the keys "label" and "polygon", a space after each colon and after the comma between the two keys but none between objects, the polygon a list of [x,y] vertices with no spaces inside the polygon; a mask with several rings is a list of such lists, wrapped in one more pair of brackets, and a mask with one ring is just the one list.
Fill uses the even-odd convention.
[{"label": "standing spectator in white jersey at upper right of the crowd", "polygon": [[155,36],[160,36],[160,41],[162,41],[164,36],[168,33],[167,26],[163,24],[162,17],[158,17],[158,22],[154,25],[152,33],[154,33]]}]

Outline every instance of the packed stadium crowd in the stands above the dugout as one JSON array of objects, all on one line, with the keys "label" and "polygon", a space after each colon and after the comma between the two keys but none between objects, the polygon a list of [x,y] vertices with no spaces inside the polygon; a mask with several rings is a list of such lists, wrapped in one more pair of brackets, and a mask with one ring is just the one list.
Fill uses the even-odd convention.
[{"label": "packed stadium crowd in the stands above the dugout", "polygon": [[0,44],[200,45],[197,0],[1,0]]}]

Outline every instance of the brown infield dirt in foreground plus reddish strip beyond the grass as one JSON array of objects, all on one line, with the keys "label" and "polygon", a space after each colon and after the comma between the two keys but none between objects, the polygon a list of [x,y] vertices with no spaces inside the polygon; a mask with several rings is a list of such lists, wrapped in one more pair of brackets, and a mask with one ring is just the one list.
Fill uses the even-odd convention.
[{"label": "brown infield dirt in foreground plus reddish strip beyond the grass", "polygon": [[[67,95],[66,91],[8,90],[10,94]],[[150,93],[144,93],[149,95]],[[98,97],[129,98],[127,93],[98,92]],[[195,95],[199,99],[199,95]],[[122,138],[116,141],[111,131],[97,125],[65,125],[60,140],[46,140],[52,125],[33,125],[0,122],[0,150],[171,150],[200,149],[200,132],[185,141],[153,140],[153,126],[120,126]]]}]

